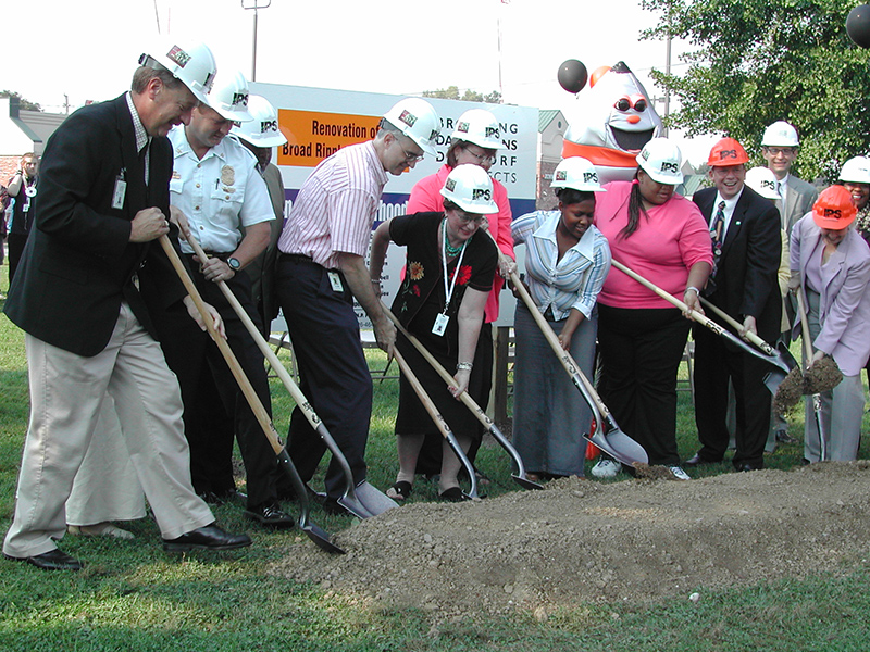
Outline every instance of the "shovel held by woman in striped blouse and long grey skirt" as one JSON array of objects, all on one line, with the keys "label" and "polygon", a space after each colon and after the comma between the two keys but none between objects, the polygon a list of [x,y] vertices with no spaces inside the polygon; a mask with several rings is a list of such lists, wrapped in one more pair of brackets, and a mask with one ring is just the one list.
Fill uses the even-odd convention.
[{"label": "shovel held by woman in striped blouse and long grey skirt", "polygon": [[[488,230],[486,233],[489,234]],[[489,237],[493,238],[493,234],[489,234]],[[495,243],[495,238],[493,238],[493,242]],[[498,253],[498,258],[504,259],[504,254],[500,251]],[[525,306],[529,309],[529,312],[532,313],[537,327],[540,328],[540,333],[544,334],[544,337],[552,349],[552,352],[556,353],[556,358],[558,358],[559,362],[562,363],[562,367],[564,367],[566,373],[568,373],[568,376],[571,378],[574,387],[577,388],[577,391],[580,391],[580,393],[583,396],[583,399],[589,405],[593,416],[595,416],[596,431],[592,434],[592,437],[585,437],[585,439],[587,441],[592,441],[608,455],[619,462],[622,462],[623,464],[627,464],[629,466],[634,465],[635,462],[647,464],[649,462],[649,457],[647,456],[644,447],[642,447],[620,429],[619,425],[613,418],[613,415],[610,414],[607,405],[605,405],[605,402],[598,396],[598,392],[595,391],[595,387],[593,387],[592,383],[589,383],[588,378],[586,378],[583,372],[580,371],[580,366],[571,358],[571,354],[562,349],[562,346],[559,343],[559,338],[552,331],[552,328],[550,328],[550,325],[547,323],[547,319],[544,318],[544,315],[540,314],[537,305],[535,305],[534,299],[532,299],[529,290],[525,289],[525,286],[523,285],[522,280],[520,280],[520,276],[517,274],[517,272],[511,272],[510,280],[513,284],[513,287],[517,288],[517,291],[519,292],[523,303],[525,303]],[[607,432],[605,432],[605,424],[607,424]]]}]

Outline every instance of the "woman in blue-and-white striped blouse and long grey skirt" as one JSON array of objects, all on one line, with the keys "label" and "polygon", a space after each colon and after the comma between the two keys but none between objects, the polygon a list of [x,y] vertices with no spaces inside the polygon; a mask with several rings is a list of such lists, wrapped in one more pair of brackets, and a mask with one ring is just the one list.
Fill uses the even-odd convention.
[{"label": "woman in blue-and-white striped blouse and long grey skirt", "polygon": [[[595,226],[595,167],[580,156],[554,173],[555,211],[536,211],[512,225],[525,244],[525,283],[562,348],[592,376],[598,313],[595,302],[610,269],[610,247]],[[513,443],[530,478],[583,476],[592,413],[564,374],[522,302],[514,321]]]}]

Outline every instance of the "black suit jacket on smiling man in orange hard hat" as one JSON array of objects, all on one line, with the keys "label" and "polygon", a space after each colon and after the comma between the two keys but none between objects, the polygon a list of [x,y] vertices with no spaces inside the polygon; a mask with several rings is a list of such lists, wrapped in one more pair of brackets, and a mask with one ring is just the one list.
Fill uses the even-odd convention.
[{"label": "black suit jacket on smiling man in orange hard hat", "polygon": [[[693,198],[708,225],[712,221],[716,195],[716,188],[705,188]],[[758,335],[769,342],[780,334],[782,301],[776,274],[781,255],[776,206],[744,186],[712,278],[714,289],[707,299],[739,322],[747,315],[754,316]]]}]

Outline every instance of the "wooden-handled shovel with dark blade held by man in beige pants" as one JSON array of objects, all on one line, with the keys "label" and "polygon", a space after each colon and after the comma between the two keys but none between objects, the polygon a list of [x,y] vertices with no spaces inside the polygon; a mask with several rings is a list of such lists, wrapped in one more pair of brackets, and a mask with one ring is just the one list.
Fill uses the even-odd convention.
[{"label": "wooden-handled shovel with dark blade held by man in beige pants", "polygon": [[263,408],[260,397],[257,396],[253,386],[251,385],[250,380],[248,380],[245,372],[241,369],[241,365],[238,363],[238,360],[236,360],[236,355],[233,353],[229,344],[214,328],[214,322],[211,318],[211,314],[209,314],[204,304],[202,303],[202,297],[200,297],[199,290],[197,290],[192,279],[187,274],[184,263],[182,263],[182,260],[178,258],[178,254],[175,252],[175,249],[173,248],[169,238],[166,236],[161,236],[160,244],[166,252],[172,266],[175,268],[175,272],[182,279],[185,289],[187,289],[187,292],[194,300],[199,314],[202,315],[202,321],[206,322],[206,327],[209,330],[209,335],[211,335],[212,339],[217,344],[217,348],[221,350],[224,360],[226,360],[226,363],[229,365],[229,371],[233,372],[233,376],[236,378],[236,381],[241,389],[241,393],[245,394],[248,404],[251,406],[251,411],[257,417],[257,421],[260,423],[260,427],[263,429],[265,438],[272,446],[272,450],[275,451],[281,467],[290,477],[290,481],[296,490],[296,496],[299,499],[299,506],[301,509],[301,513],[299,514],[299,529],[301,529],[308,536],[308,538],[311,539],[322,550],[325,550],[326,552],[344,554],[344,550],[330,541],[330,535],[327,535],[326,531],[309,521],[311,504],[308,499],[308,490],[302,481],[302,478],[299,477],[296,466],[294,466],[293,462],[290,461],[290,456],[287,454],[287,451],[284,450],[284,446],[281,442],[281,437],[278,437],[269,413],[265,411],[265,408]]}]

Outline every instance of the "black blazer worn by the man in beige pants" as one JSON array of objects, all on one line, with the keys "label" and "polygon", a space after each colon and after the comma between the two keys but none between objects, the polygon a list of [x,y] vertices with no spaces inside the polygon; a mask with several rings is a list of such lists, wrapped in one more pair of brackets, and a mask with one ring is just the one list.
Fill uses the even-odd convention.
[{"label": "black blazer worn by the man in beige pants", "polygon": [[[128,240],[138,211],[170,214],[171,174],[169,139],[153,138],[146,188],[125,96],[73,113],[46,146],[34,228],[4,306],[9,318],[49,344],[90,356],[109,342],[123,300],[156,336],[147,306],[165,310],[184,287],[158,242]],[[126,193],[114,209],[122,175]]]}]

